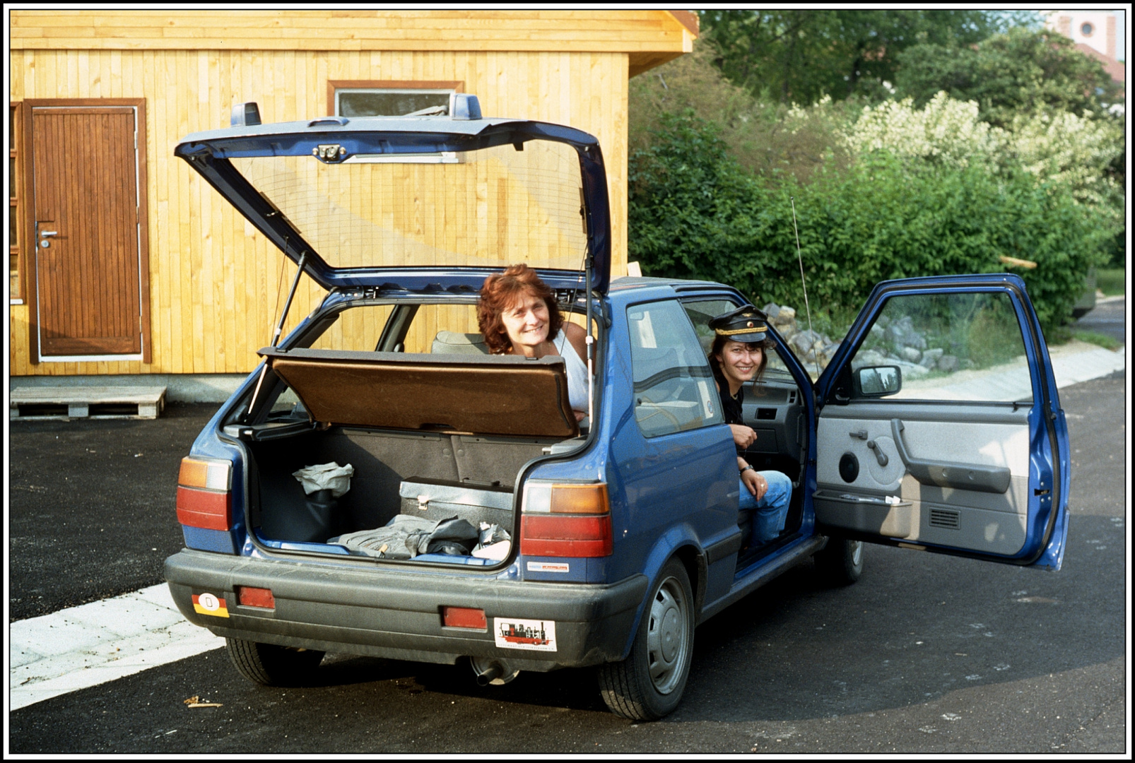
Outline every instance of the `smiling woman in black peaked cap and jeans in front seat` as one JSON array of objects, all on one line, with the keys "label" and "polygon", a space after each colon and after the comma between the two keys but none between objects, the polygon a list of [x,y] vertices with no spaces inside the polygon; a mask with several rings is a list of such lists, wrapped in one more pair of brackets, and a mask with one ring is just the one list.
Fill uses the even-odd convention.
[{"label": "smiling woman in black peaked cap and jeans in front seat", "polygon": [[756,384],[764,374],[773,346],[765,330],[765,313],[754,307],[740,308],[709,321],[714,342],[709,350],[717,393],[725,422],[733,433],[737,445],[737,468],[741,478],[742,511],[754,510],[753,543],[765,544],[776,539],[784,529],[784,518],[792,500],[792,480],[780,471],[757,471],[746,461],[743,451],[757,439],[757,433],[741,418],[745,384]]}]

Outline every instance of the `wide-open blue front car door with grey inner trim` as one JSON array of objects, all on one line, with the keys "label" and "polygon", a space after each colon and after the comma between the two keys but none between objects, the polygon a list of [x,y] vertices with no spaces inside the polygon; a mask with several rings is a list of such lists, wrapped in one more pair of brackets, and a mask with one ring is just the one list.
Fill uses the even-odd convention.
[{"label": "wide-open blue front car door with grey inner trim", "polygon": [[816,393],[821,531],[1060,568],[1068,429],[1019,277],[880,284]]}]

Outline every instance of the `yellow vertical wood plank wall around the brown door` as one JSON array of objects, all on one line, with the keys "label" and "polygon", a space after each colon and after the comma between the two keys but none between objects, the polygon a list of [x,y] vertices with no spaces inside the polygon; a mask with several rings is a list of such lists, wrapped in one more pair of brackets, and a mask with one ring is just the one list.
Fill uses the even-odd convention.
[{"label": "yellow vertical wood plank wall around the brown door", "polygon": [[[173,156],[187,133],[228,125],[254,100],[264,121],[329,114],[329,79],[462,81],[493,116],[569,124],[599,139],[614,275],[627,263],[625,52],[12,50],[11,100],[145,98],[152,362],[28,361],[27,305],[9,308],[10,372],[245,372],[268,344],[291,262]],[[322,290],[304,278],[285,330]]]}]

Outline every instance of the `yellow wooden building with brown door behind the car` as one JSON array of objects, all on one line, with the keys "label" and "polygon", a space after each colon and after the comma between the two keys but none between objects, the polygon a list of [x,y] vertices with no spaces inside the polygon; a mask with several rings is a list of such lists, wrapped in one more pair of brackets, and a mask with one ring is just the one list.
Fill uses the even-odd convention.
[{"label": "yellow wooden building with brown door behind the car", "polygon": [[[11,10],[10,374],[257,364],[294,266],[173,156],[241,101],[286,121],[455,91],[590,132],[619,274],[628,79],[696,34],[692,12],[658,10]],[[304,279],[289,326],[322,294]]]}]

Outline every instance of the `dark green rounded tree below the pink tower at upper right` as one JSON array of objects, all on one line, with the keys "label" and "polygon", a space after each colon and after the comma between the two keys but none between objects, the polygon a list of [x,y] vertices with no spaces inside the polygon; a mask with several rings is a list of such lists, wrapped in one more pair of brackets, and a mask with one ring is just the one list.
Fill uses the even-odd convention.
[{"label": "dark green rounded tree below the pink tower at upper right", "polygon": [[920,107],[945,91],[976,101],[978,118],[997,127],[1040,111],[1107,115],[1117,92],[1099,60],[1044,30],[1014,28],[974,47],[913,45],[898,54],[898,98]]}]

